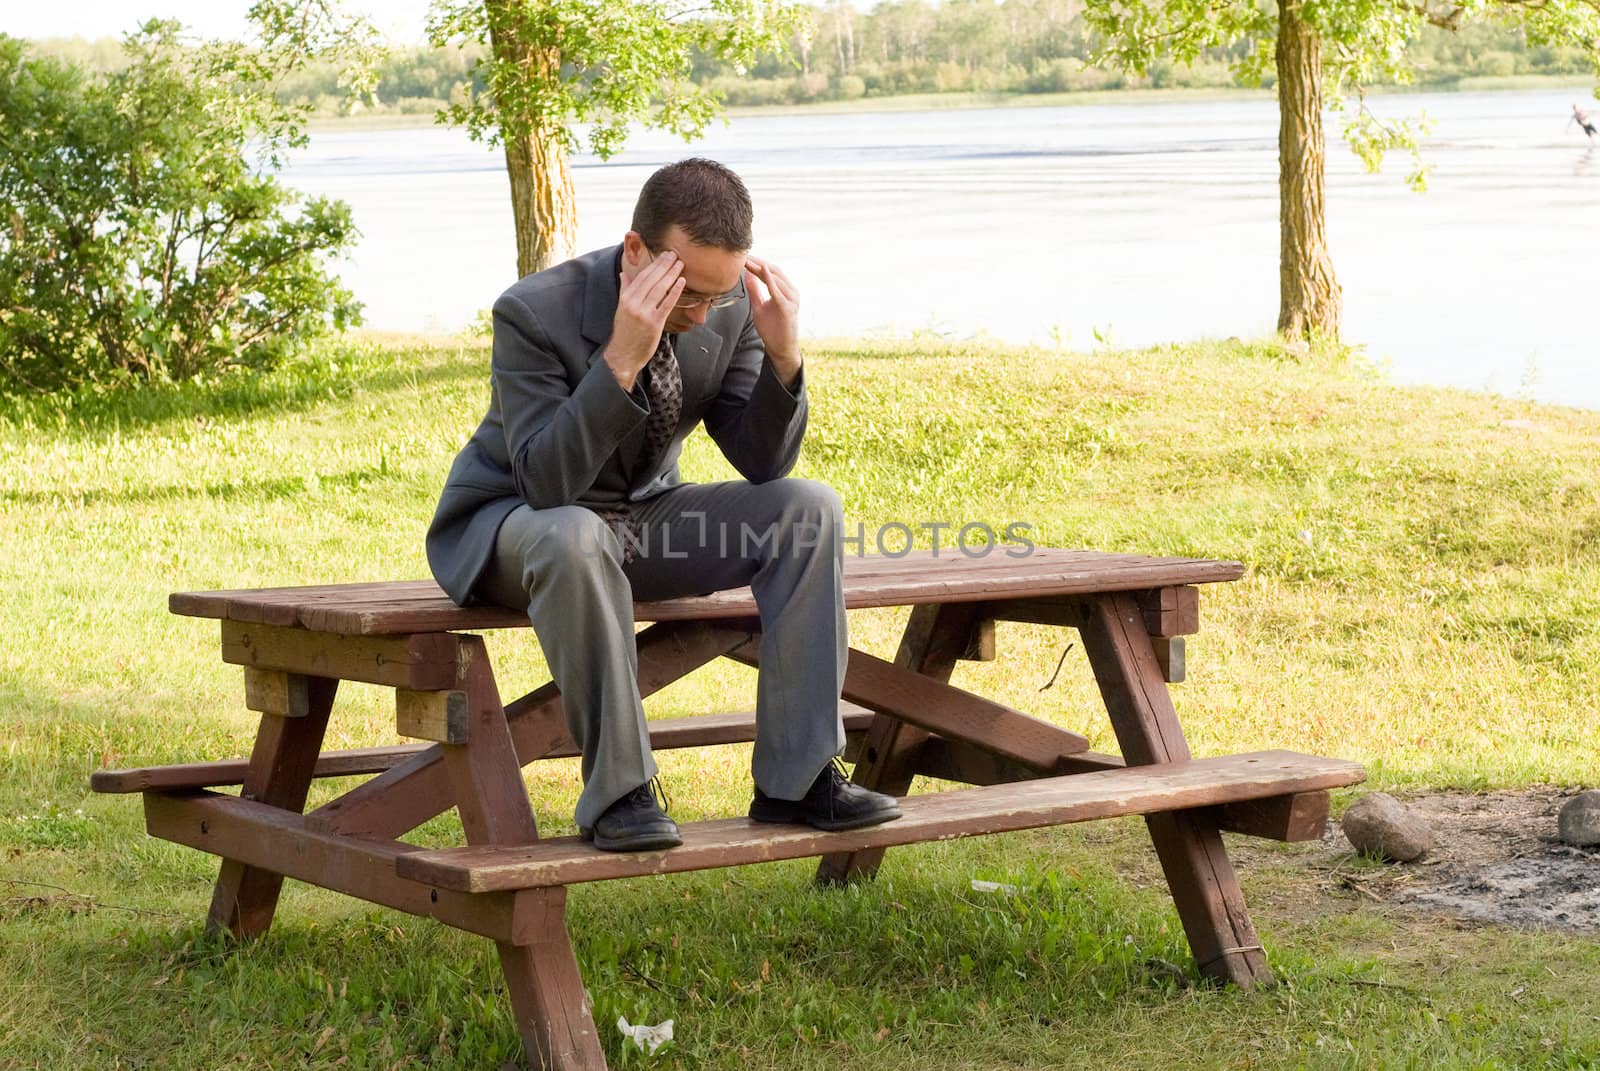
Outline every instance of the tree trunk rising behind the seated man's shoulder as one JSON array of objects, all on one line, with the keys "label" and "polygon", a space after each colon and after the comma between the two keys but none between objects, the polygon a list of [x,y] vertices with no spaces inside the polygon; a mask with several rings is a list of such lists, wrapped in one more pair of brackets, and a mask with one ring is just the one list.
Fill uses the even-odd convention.
[{"label": "tree trunk rising behind the seated man's shoulder", "polygon": [[[515,35],[515,19],[496,8],[507,0],[485,0],[490,11],[490,46],[501,62],[522,67],[530,78],[554,78],[562,56],[554,48],[531,45]],[[570,259],[578,243],[578,197],[560,131],[539,115],[515,115],[528,133],[506,134],[506,174],[510,178],[512,226],[517,229],[517,277],[541,272]]]}]

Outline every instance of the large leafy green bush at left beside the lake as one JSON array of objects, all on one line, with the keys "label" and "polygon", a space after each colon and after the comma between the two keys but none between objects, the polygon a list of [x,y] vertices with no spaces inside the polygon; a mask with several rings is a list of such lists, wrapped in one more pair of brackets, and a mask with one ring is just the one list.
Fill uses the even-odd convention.
[{"label": "large leafy green bush at left beside the lake", "polygon": [[282,115],[176,32],[102,75],[0,35],[0,391],[266,368],[358,320],[323,271],[349,207],[253,170]]}]

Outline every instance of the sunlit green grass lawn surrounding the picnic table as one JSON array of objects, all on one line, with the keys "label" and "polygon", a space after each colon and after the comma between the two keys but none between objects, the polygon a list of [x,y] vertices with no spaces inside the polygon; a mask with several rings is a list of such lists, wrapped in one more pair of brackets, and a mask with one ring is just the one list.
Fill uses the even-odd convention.
[{"label": "sunlit green grass lawn surrounding the picnic table", "polygon": [[[1398,389],[1272,344],[1069,354],[819,344],[800,474],[851,522],[1035,525],[1058,546],[1234,557],[1174,698],[1200,754],[1288,746],[1371,786],[1597,780],[1600,415]],[[206,938],[214,860],[142,834],[102,765],[245,754],[254,724],[174,589],[426,576],[421,538],[486,402],[486,347],[355,339],[267,379],[0,410],[0,1068],[498,1068],[520,1058],[486,941],[291,884],[264,941]],[[1510,423],[1507,423],[1510,421]],[[707,440],[686,475],[726,467]],[[926,538],[923,540],[926,543]],[[904,612],[853,618],[891,653]],[[957,682],[1114,749],[1072,637],[1002,624]],[[544,679],[491,637],[502,688]],[[710,668],[651,716],[746,709]],[[330,746],[389,743],[350,687]],[[736,813],[747,752],[674,752],[680,818]],[[530,768],[571,828],[571,762]],[[341,784],[318,784],[325,799]],[[450,842],[453,820],[418,839]],[[1459,929],[1250,855],[1282,981],[1187,985],[1138,823],[574,888],[613,1066],[1587,1068],[1600,943]],[[970,879],[1019,887],[976,893]],[[677,1020],[654,1060],[613,1023]]]}]

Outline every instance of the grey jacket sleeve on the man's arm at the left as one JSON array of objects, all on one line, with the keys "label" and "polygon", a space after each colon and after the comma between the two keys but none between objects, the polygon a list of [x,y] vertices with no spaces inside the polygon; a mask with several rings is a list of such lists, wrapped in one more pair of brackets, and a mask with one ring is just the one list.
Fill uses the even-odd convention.
[{"label": "grey jacket sleeve on the man's arm at the left", "polygon": [[603,359],[573,387],[538,314],[512,295],[494,303],[494,402],[517,491],[534,509],[570,506],[650,413]]}]

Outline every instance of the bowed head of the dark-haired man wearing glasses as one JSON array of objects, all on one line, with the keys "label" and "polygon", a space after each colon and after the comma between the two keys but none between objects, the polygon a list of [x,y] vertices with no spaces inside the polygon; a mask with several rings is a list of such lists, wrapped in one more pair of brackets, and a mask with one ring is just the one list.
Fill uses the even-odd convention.
[{"label": "bowed head of the dark-haired man wearing glasses", "polygon": [[741,293],[750,218],[744,183],[715,160],[678,160],[645,181],[622,239],[622,272],[632,277],[667,250],[683,261],[683,296],[667,331],[704,323],[718,301]]}]

